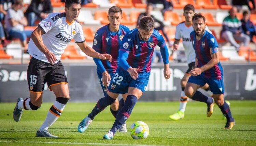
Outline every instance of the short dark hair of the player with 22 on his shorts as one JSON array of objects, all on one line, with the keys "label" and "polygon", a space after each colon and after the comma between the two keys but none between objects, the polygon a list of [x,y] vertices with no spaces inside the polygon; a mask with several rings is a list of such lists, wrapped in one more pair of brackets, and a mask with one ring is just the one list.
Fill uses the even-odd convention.
[{"label": "short dark hair of the player with 22 on his shorts", "polygon": [[152,31],[155,27],[155,21],[150,16],[144,16],[140,19],[139,28],[145,31]]}]

